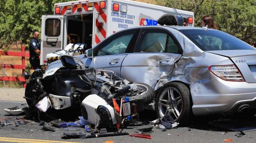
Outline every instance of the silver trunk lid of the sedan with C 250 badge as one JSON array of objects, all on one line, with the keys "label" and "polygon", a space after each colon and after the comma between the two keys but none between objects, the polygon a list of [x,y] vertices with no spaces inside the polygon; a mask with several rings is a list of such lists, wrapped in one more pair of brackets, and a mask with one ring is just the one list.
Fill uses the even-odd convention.
[{"label": "silver trunk lid of the sedan with C 250 badge", "polygon": [[256,83],[256,49],[255,50],[220,50],[205,51],[229,57],[242,73],[248,83]]}]

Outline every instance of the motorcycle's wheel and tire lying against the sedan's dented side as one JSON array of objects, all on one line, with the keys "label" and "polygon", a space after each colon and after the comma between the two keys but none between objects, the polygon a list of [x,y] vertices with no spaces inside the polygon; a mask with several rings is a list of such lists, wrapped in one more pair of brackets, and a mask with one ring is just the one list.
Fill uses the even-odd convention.
[{"label": "motorcycle's wheel and tire lying against the sedan's dented side", "polygon": [[[135,99],[143,99],[144,104],[151,103],[154,98],[155,98],[155,92],[153,88],[145,83],[134,83],[138,90],[133,91],[131,94],[129,94],[130,100],[135,100]],[[142,94],[138,94],[139,92],[144,91]]]}]

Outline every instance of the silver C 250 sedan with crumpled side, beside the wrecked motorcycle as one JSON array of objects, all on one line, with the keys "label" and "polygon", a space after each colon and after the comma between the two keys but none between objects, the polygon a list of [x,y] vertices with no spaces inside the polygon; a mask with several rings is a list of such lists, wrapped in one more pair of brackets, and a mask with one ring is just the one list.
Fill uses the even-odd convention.
[{"label": "silver C 250 sedan with crumpled side, beside the wrecked motorcycle", "polygon": [[146,26],[114,33],[86,51],[89,67],[154,88],[159,117],[256,112],[256,49],[222,31]]}]

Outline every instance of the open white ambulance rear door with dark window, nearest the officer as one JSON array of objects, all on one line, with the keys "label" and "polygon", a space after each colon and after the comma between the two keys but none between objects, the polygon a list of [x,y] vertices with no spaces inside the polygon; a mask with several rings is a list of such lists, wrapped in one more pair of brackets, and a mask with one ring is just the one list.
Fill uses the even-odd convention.
[{"label": "open white ambulance rear door with dark window, nearest the officer", "polygon": [[63,49],[63,15],[42,15],[40,65],[46,65],[47,54]]}]

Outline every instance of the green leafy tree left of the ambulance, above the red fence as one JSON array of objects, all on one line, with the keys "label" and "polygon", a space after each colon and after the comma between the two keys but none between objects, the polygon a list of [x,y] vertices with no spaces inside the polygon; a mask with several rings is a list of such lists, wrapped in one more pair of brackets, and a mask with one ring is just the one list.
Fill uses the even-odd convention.
[{"label": "green leafy tree left of the ambulance, above the red fence", "polygon": [[42,15],[53,14],[54,3],[68,0],[0,0],[0,48],[22,41],[27,44],[31,32],[41,32]]}]

